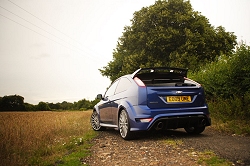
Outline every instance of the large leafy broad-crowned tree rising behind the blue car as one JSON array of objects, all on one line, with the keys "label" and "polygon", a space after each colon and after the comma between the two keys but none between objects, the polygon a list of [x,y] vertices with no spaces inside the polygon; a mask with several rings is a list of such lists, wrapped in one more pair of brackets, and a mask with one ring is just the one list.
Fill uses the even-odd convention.
[{"label": "large leafy broad-crowned tree rising behind the blue car", "polygon": [[134,13],[124,28],[103,76],[114,81],[139,67],[172,66],[193,71],[220,53],[232,53],[236,36],[223,27],[214,28],[192,9],[189,1],[156,1]]}]

